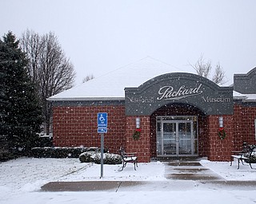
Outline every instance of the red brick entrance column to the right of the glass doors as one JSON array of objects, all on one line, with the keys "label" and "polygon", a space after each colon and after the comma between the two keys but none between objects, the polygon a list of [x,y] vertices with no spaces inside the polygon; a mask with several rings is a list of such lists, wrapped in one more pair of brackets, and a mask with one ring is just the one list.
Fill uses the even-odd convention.
[{"label": "red brick entrance column to the right of the glass doors", "polygon": [[208,116],[208,138],[210,161],[230,161],[233,150],[233,116],[223,116],[226,138],[220,139],[218,136],[219,116]]}]

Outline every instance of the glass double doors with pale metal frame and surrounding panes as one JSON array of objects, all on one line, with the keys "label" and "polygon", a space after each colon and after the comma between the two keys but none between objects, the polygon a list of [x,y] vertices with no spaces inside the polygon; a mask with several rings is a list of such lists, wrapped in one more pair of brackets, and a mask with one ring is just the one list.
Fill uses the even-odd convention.
[{"label": "glass double doors with pale metal frame and surrounding panes", "polygon": [[158,156],[197,156],[198,117],[158,116]]}]

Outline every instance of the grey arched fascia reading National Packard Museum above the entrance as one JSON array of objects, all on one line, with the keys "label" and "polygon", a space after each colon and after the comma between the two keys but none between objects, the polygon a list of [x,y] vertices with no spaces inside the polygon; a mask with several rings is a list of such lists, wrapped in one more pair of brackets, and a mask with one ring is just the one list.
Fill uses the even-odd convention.
[{"label": "grey arched fascia reading National Packard Museum above the entrance", "polygon": [[190,104],[206,115],[233,114],[233,88],[191,73],[168,73],[125,88],[126,116],[149,116],[166,104]]}]

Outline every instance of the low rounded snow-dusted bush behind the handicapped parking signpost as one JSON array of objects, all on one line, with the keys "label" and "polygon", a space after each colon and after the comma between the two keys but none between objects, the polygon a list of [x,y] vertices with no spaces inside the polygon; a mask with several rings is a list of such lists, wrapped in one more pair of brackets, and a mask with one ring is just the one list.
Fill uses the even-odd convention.
[{"label": "low rounded snow-dusted bush behind the handicapped parking signpost", "polygon": [[[104,153],[104,164],[120,164],[122,163],[122,157],[117,154]],[[101,154],[96,151],[87,151],[79,155],[81,163],[101,163]]]}]

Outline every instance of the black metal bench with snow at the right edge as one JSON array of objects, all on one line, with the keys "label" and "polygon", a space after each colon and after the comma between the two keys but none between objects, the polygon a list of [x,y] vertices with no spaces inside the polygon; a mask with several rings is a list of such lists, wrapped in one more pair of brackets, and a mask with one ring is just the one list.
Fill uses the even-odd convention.
[{"label": "black metal bench with snow at the right edge", "polygon": [[256,146],[255,145],[246,145],[246,147],[243,147],[243,150],[239,153],[239,155],[231,155],[231,163],[234,159],[238,159],[238,169],[240,162],[246,162],[250,164],[250,168],[253,169],[251,166],[252,163],[256,163]]}]

